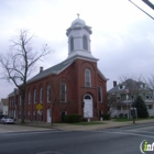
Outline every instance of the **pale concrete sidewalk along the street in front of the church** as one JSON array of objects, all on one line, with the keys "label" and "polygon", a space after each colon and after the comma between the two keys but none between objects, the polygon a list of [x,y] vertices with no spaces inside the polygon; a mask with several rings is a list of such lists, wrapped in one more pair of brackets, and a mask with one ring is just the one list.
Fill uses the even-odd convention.
[{"label": "pale concrete sidewalk along the street in front of the church", "polygon": [[[139,120],[135,121],[136,124],[143,124],[143,123],[152,123],[154,122],[154,119],[148,120]],[[46,128],[46,129],[53,129],[53,130],[62,130],[62,131],[92,131],[92,130],[102,130],[102,129],[109,129],[109,128],[121,128],[127,125],[134,125],[132,121],[127,122],[116,122],[113,120],[109,121],[102,121],[102,124],[94,124],[94,125],[75,125],[75,124],[67,124],[67,123],[54,123],[53,127],[51,123],[46,122],[26,122],[24,125],[28,127],[37,127],[37,128]]]}]

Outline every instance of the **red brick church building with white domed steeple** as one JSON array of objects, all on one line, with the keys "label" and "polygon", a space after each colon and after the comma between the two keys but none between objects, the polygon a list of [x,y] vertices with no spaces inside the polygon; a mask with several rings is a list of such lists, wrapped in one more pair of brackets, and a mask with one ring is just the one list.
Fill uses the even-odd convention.
[{"label": "red brick church building with white domed steeple", "polygon": [[[61,121],[62,114],[78,113],[82,118],[98,119],[107,111],[107,78],[98,69],[90,50],[91,28],[79,18],[66,30],[68,57],[43,70],[28,81],[25,119],[32,121]],[[36,106],[42,109],[37,113]],[[16,105],[16,107],[15,107]],[[21,98],[9,95],[9,113],[21,117]]]}]

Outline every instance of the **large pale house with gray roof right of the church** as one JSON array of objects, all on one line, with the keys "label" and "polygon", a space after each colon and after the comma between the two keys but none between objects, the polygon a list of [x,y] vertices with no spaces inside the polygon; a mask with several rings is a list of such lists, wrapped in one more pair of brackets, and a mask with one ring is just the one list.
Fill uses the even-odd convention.
[{"label": "large pale house with gray roof right of the church", "polygon": [[[122,84],[117,85],[113,81],[113,88],[108,91],[109,97],[114,95],[117,97],[117,106],[112,110],[111,117],[130,116],[130,109],[138,96],[141,96],[146,105],[150,117],[154,117],[154,96],[153,90],[142,81],[127,79]],[[110,108],[111,110],[111,108]]]}]

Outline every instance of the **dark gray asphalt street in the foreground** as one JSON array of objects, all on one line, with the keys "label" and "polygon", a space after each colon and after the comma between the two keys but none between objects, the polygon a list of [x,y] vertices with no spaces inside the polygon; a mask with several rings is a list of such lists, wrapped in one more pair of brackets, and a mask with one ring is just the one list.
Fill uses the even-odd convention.
[{"label": "dark gray asphalt street in the foreground", "polygon": [[153,123],[94,131],[3,132],[0,154],[141,154],[143,140],[154,142]]}]

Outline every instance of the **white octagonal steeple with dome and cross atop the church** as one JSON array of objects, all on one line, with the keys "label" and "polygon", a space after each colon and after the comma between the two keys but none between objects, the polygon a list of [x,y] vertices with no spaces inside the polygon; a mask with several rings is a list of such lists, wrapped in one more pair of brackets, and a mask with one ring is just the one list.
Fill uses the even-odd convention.
[{"label": "white octagonal steeple with dome and cross atop the church", "polygon": [[91,55],[90,48],[90,34],[92,33],[91,28],[86,25],[86,22],[79,18],[72,22],[70,28],[66,31],[68,36],[68,57],[84,56],[95,58]]}]

